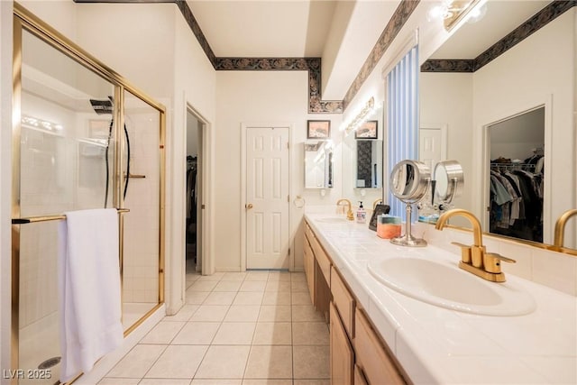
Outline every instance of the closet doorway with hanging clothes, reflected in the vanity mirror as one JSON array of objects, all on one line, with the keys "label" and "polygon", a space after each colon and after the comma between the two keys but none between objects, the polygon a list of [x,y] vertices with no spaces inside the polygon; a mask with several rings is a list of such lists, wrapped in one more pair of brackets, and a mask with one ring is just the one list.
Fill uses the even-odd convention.
[{"label": "closet doorway with hanging clothes, reflected in the vanity mirror", "polygon": [[490,124],[489,232],[543,242],[545,106]]}]

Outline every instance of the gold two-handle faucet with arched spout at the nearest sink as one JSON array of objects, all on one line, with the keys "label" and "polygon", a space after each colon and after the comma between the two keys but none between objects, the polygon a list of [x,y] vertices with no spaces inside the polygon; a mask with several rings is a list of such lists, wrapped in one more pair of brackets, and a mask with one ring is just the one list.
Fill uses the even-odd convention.
[{"label": "gold two-handle faucet with arched spout at the nearest sink", "polygon": [[452,244],[461,247],[461,261],[459,267],[469,271],[483,280],[492,282],[505,282],[505,273],[501,271],[500,262],[515,263],[515,260],[499,255],[495,252],[487,252],[482,242],[481,223],[471,212],[462,208],[454,208],[444,212],[436,221],[435,229],[443,230],[447,220],[454,215],[462,215],[469,219],[472,224],[473,244],[468,246],[463,243]]}]

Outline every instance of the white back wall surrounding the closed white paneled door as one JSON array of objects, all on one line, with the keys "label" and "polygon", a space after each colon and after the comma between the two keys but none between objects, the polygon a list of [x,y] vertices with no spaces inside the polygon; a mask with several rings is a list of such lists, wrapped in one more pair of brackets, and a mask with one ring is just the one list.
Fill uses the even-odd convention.
[{"label": "white back wall surrounding the closed white paneled door", "polygon": [[[307,115],[307,71],[219,71],[217,72],[218,130],[215,133],[215,256],[216,270],[241,268],[241,124],[294,124],[290,150],[291,201],[305,197],[308,205],[334,205],[341,197],[341,115]],[[307,119],[330,119],[335,142],[334,188],[304,189],[304,147]],[[297,234],[304,208],[291,205],[291,237]],[[302,244],[297,237],[293,249],[296,269],[302,269]]]}]

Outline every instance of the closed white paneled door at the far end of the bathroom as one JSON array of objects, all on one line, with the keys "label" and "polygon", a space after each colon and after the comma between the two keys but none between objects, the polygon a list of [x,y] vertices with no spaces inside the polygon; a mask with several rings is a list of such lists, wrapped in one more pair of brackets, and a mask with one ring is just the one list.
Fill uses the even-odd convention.
[{"label": "closed white paneled door at the far end of the bathroom", "polygon": [[289,268],[289,128],[246,133],[246,268]]}]

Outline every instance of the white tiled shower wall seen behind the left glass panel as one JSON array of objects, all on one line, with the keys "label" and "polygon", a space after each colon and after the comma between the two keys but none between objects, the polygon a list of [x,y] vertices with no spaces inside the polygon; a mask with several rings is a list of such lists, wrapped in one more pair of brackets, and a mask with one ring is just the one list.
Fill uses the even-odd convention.
[{"label": "white tiled shower wall seen behind the left glass panel", "polygon": [[[103,154],[84,161],[92,188],[78,188],[83,158],[77,138],[87,136],[87,116],[81,116],[39,97],[23,93],[23,116],[33,116],[62,130],[50,133],[23,124],[21,133],[21,216],[60,215],[68,210],[103,205]],[[99,150],[99,149],[96,149]],[[20,226],[20,326],[32,325],[58,309],[58,221]]]}]

